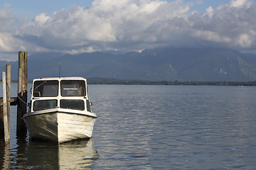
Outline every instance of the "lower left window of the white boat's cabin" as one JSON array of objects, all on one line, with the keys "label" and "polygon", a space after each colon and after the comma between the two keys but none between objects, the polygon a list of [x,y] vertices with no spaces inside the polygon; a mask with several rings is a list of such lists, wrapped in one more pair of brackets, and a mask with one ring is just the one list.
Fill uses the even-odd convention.
[{"label": "lower left window of the white boat's cabin", "polygon": [[33,111],[41,111],[57,107],[57,100],[40,100],[33,102]]}]

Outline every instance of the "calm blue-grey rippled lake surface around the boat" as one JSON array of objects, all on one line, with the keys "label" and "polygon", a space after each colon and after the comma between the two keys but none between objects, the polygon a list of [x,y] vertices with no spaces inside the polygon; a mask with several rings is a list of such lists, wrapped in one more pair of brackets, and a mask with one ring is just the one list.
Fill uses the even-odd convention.
[{"label": "calm blue-grey rippled lake surface around the boat", "polygon": [[92,139],[60,146],[17,140],[11,106],[0,168],[256,168],[256,87],[89,85],[89,94]]}]

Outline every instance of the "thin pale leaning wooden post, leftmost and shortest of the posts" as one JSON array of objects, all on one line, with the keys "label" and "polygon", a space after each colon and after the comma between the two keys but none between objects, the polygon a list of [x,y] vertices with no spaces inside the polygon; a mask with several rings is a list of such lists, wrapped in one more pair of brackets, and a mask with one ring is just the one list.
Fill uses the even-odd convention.
[{"label": "thin pale leaning wooden post, leftmost and shortest of the posts", "polygon": [[8,115],[7,115],[7,98],[6,98],[6,73],[2,72],[2,81],[3,81],[3,111],[4,111],[4,142],[9,144],[10,142],[10,132],[8,125]]}]

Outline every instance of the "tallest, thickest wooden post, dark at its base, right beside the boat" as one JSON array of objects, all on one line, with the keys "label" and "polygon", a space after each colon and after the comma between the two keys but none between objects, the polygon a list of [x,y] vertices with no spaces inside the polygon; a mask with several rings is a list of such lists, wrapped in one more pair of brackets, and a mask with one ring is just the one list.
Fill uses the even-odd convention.
[{"label": "tallest, thickest wooden post, dark at its base, right beside the boat", "polygon": [[18,102],[17,102],[17,137],[26,136],[26,124],[22,120],[26,113],[28,94],[28,53],[18,52]]}]

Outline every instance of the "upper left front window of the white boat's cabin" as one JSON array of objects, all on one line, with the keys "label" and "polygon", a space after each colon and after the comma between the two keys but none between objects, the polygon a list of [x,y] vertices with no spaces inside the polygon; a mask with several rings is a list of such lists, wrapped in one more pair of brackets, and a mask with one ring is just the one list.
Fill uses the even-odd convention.
[{"label": "upper left front window of the white boat's cabin", "polygon": [[35,81],[33,84],[33,97],[58,96],[58,80]]}]

